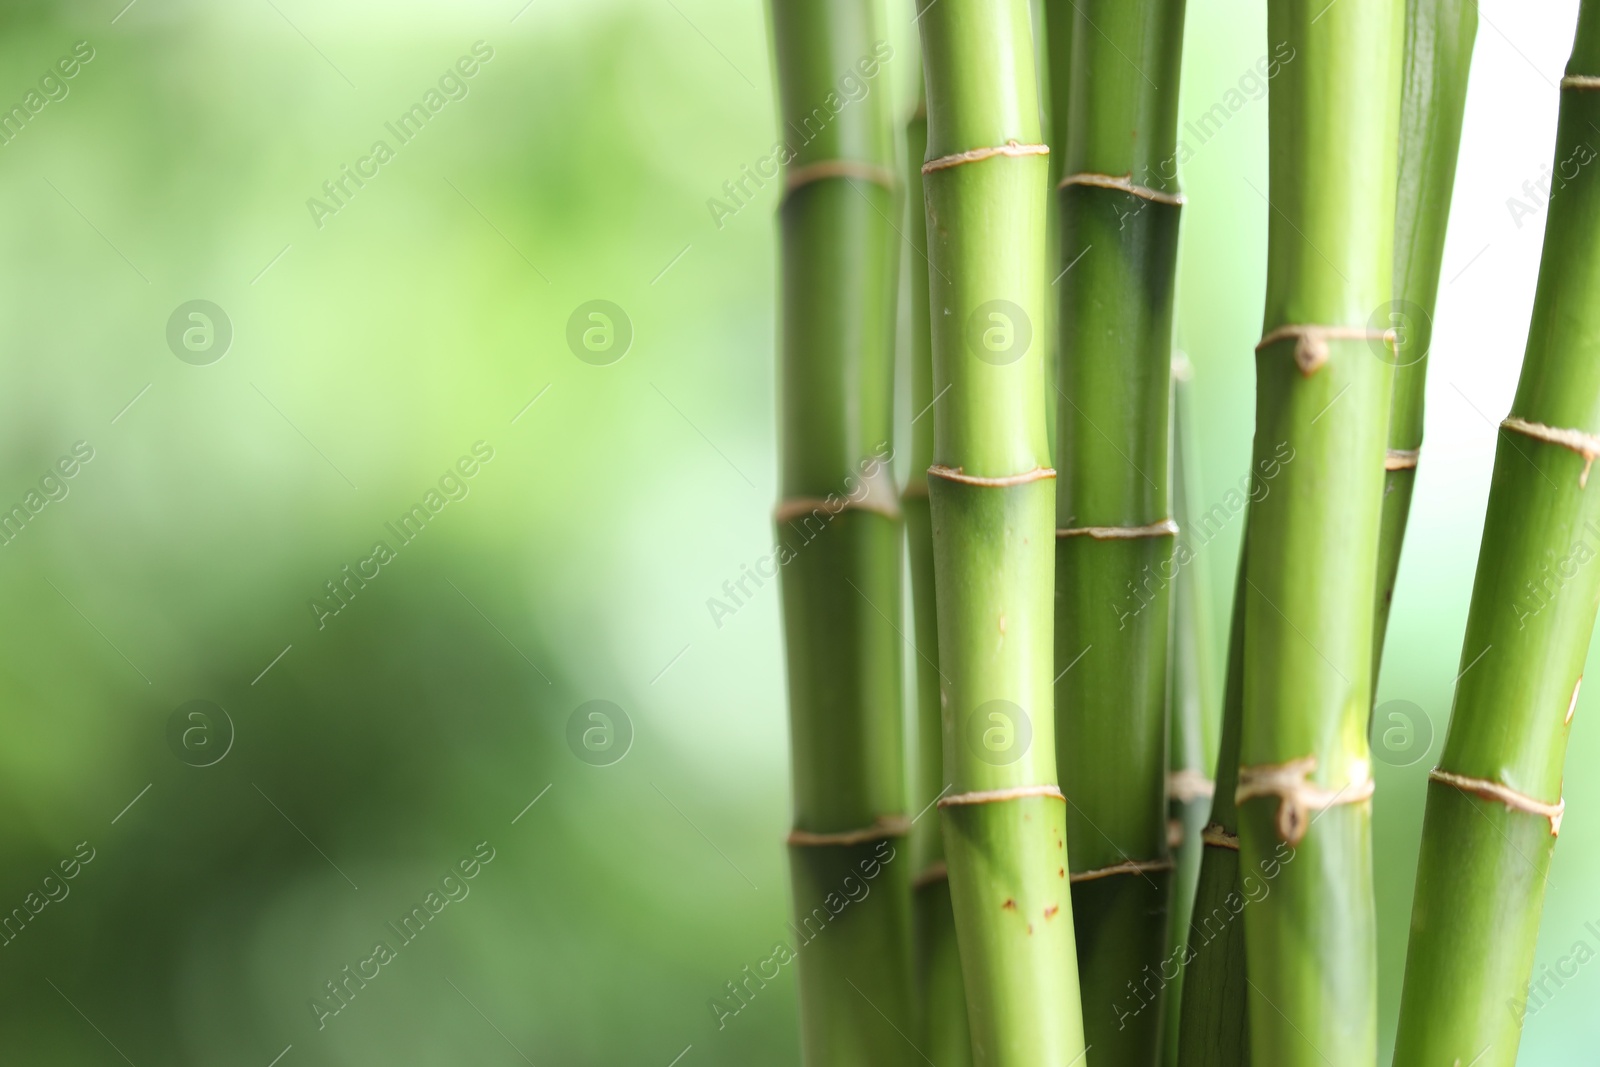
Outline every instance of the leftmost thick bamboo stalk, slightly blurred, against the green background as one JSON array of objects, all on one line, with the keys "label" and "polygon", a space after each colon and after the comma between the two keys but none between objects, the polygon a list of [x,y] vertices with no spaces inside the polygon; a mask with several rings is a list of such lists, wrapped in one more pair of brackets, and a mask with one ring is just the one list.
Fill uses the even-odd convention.
[{"label": "leftmost thick bamboo stalk, slightly blurred, against the green background", "polygon": [[[790,883],[803,1061],[920,1062],[912,1027],[901,517],[890,472],[898,237],[883,11],[773,0]],[[842,102],[842,78],[864,93]],[[859,886],[866,886],[866,893]],[[840,907],[838,901],[850,901]]]}]

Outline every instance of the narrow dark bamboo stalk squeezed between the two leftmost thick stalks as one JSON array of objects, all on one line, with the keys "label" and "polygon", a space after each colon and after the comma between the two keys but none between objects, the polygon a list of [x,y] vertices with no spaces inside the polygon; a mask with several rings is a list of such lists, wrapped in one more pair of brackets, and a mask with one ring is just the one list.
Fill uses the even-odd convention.
[{"label": "narrow dark bamboo stalk squeezed between the two leftmost thick stalks", "polygon": [[[917,640],[917,765],[912,798],[917,811],[933,805],[950,784],[944,776],[944,725],[939,718],[939,619],[933,593],[933,515],[928,467],[933,466],[933,347],[928,338],[928,224],[922,202],[922,158],[928,150],[928,112],[918,102],[906,123],[910,160],[906,240],[910,275],[910,475],[901,494],[910,560],[912,622]],[[912,910],[917,925],[917,1006],[920,1046],[941,1067],[973,1062],[966,1025],[962,957],[955,945],[955,912],[944,867],[944,832],[938,819],[918,819],[910,833]]]}]

